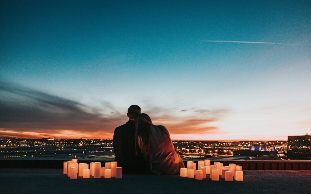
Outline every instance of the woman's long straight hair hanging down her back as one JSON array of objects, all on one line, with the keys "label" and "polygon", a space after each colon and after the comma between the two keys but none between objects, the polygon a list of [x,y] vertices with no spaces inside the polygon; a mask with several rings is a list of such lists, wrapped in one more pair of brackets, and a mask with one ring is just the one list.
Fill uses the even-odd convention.
[{"label": "woman's long straight hair hanging down her back", "polygon": [[[147,156],[149,153],[151,125],[153,125],[151,118],[145,113],[139,114],[135,118],[135,148],[137,156],[140,155],[140,153]],[[138,136],[140,137],[139,139]],[[140,145],[138,145],[138,141]]]}]

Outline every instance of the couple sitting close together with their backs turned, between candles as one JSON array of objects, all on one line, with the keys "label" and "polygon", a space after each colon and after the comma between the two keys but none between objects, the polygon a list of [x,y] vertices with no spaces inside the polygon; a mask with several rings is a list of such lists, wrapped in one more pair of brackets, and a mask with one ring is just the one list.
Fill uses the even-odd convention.
[{"label": "couple sitting close together with their backs turned, between candles", "polygon": [[114,154],[125,174],[176,174],[183,160],[162,125],[154,125],[141,108],[128,108],[129,121],[114,130]]}]

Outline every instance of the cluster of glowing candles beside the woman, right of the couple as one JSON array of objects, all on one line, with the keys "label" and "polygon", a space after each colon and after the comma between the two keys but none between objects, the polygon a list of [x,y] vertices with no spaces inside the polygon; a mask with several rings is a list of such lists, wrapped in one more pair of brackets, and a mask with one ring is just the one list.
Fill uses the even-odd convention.
[{"label": "cluster of glowing candles beside the woman, right of the couple", "polygon": [[233,177],[236,181],[243,181],[242,166],[229,164],[229,166],[223,166],[220,162],[214,162],[211,165],[211,160],[198,161],[198,167],[196,170],[196,163],[193,161],[187,161],[187,168],[180,168],[180,176],[194,178],[202,180],[209,175],[212,181],[218,181],[219,176],[225,178],[225,181],[233,181]]}]

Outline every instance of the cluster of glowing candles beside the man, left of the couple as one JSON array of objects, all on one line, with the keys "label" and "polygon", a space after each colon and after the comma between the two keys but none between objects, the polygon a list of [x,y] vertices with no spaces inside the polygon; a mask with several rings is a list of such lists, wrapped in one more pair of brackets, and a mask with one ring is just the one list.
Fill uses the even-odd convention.
[{"label": "cluster of glowing candles beside the man, left of the couple", "polygon": [[82,178],[122,178],[122,167],[118,167],[118,162],[106,162],[105,167],[101,167],[100,162],[91,162],[90,168],[86,163],[77,163],[78,159],[68,160],[63,163],[63,174],[67,174],[71,179],[77,176]]}]

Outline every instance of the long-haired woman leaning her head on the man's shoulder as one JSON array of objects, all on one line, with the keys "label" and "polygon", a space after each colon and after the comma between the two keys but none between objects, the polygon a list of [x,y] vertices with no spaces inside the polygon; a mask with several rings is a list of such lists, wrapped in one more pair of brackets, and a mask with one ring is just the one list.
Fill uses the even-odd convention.
[{"label": "long-haired woman leaning her head on the man's shoulder", "polygon": [[164,126],[152,124],[150,117],[142,113],[135,118],[135,127],[136,155],[148,162],[148,173],[176,174],[184,167]]}]

